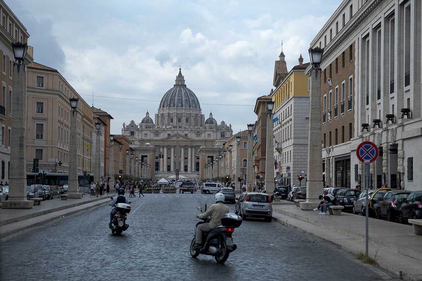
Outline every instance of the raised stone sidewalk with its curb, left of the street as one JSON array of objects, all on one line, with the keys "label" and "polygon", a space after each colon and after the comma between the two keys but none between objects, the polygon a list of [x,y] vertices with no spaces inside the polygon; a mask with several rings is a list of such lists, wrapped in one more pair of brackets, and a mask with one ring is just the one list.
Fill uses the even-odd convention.
[{"label": "raised stone sidewalk with its curb, left of the street", "polygon": [[41,205],[33,206],[31,209],[0,208],[0,237],[110,201],[110,196],[89,197],[89,195],[84,195],[81,199],[45,200],[41,202]]}]

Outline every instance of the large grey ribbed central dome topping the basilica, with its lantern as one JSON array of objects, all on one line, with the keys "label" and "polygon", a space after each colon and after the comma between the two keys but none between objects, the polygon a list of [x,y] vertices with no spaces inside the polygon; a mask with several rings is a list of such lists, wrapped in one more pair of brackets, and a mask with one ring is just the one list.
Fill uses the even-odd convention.
[{"label": "large grey ribbed central dome topping the basilica, with its lantern", "polygon": [[169,89],[160,102],[160,109],[166,108],[191,108],[201,110],[199,101],[195,93],[186,86],[185,78],[179,68],[176,76],[176,84]]}]

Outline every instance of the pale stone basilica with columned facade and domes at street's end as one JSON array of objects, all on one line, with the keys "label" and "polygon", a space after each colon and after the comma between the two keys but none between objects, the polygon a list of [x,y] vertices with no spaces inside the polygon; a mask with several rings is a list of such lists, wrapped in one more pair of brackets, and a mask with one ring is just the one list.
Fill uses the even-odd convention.
[{"label": "pale stone basilica with columned facade and domes at street's end", "polygon": [[175,84],[163,96],[158,112],[149,112],[140,123],[123,124],[122,135],[130,139],[135,151],[133,171],[144,177],[199,176],[199,148],[214,146],[217,140],[233,134],[231,125],[205,119],[195,93],[185,84],[179,68]]}]

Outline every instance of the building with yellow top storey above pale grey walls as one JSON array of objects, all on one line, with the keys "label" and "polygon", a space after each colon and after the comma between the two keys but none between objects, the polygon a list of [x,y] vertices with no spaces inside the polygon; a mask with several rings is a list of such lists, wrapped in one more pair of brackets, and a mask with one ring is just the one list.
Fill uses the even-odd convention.
[{"label": "building with yellow top storey above pale grey walls", "polygon": [[302,55],[272,91],[274,101],[274,158],[276,179],[283,185],[299,185],[297,175],[308,167],[309,87]]}]

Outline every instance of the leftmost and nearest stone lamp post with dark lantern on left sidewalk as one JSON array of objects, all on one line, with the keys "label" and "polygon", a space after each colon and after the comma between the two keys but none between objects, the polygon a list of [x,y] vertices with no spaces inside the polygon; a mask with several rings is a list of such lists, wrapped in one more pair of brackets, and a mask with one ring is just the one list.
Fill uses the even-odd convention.
[{"label": "leftmost and nearest stone lamp post with dark lantern on left sidewalk", "polygon": [[[9,198],[3,201],[3,209],[29,209],[33,201],[27,200],[27,74],[25,69],[20,71],[21,66],[25,68],[25,57],[27,55],[27,44],[12,44],[15,62],[13,64],[13,118],[12,136],[10,144],[10,169],[9,169]],[[16,68],[15,68],[16,66]],[[15,69],[17,71],[15,71]]]}]

